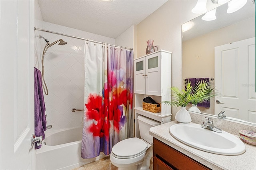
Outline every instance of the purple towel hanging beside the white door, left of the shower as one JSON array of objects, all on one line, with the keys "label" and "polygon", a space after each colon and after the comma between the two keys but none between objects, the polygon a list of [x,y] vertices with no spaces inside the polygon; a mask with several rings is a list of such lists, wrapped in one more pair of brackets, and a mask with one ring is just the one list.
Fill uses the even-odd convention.
[{"label": "purple towel hanging beside the white door, left of the shower", "polygon": [[[35,79],[35,135],[43,136],[46,130],[46,116],[45,116],[45,105],[44,105],[44,93],[42,88],[42,76],[41,71],[37,68],[34,69]],[[42,145],[37,146],[38,142],[35,143],[35,149],[41,148]]]}]

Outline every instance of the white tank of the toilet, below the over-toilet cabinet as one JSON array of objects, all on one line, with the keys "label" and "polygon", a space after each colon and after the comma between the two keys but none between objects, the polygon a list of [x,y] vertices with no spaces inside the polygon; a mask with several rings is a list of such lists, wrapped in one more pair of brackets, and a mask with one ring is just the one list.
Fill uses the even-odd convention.
[{"label": "white tank of the toilet, below the over-toilet cabinet", "polygon": [[153,136],[149,134],[149,129],[151,127],[155,127],[157,125],[160,125],[161,123],[158,121],[155,121],[153,119],[144,117],[139,115],[138,116],[138,124],[140,129],[140,137],[145,140],[146,142],[152,144],[153,143]]}]

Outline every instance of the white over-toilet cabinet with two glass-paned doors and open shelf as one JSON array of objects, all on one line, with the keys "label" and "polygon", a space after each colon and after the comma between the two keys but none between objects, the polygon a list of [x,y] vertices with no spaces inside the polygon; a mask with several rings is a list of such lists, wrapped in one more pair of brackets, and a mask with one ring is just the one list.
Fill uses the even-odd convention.
[{"label": "white over-toilet cabinet with two glass-paned doors and open shelf", "polygon": [[138,138],[138,115],[154,119],[161,124],[172,120],[170,106],[162,105],[160,113],[142,109],[145,97],[150,96],[158,103],[171,99],[171,55],[169,51],[160,50],[134,59],[135,136]]}]

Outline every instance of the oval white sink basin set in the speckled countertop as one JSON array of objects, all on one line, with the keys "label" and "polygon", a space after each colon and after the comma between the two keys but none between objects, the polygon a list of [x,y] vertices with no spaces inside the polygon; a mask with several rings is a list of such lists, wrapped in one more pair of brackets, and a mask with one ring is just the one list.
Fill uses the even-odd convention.
[{"label": "oval white sink basin set in the speckled countertop", "polygon": [[214,132],[201,125],[179,123],[169,129],[174,138],[180,142],[206,152],[222,155],[239,155],[245,152],[244,143],[233,134]]}]

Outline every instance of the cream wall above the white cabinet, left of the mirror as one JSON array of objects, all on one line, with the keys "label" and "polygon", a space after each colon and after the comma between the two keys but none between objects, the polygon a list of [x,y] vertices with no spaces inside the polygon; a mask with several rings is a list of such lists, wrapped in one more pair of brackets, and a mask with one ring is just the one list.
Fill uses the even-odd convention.
[{"label": "cream wall above the white cabinet, left of the mirror", "polygon": [[[159,49],[172,52],[172,86],[182,87],[182,32],[181,26],[185,22],[196,18],[200,14],[193,14],[192,8],[197,0],[169,0],[158,8],[153,14],[137,25],[137,47],[135,57],[145,55],[149,39],[154,40],[154,45]],[[219,5],[213,5],[210,0],[206,5],[207,10],[212,10]],[[172,108],[172,120],[179,108]]]}]

